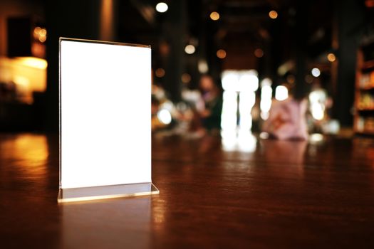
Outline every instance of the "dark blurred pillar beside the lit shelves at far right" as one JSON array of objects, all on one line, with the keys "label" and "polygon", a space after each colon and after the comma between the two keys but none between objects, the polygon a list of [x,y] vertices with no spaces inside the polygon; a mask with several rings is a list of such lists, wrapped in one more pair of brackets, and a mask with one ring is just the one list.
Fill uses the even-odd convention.
[{"label": "dark blurred pillar beside the lit shelves at far right", "polygon": [[333,117],[341,122],[341,126],[350,127],[353,124],[358,27],[362,25],[364,12],[355,0],[335,1],[334,9],[338,16],[338,77]]}]

